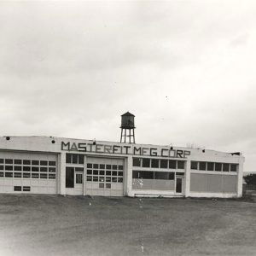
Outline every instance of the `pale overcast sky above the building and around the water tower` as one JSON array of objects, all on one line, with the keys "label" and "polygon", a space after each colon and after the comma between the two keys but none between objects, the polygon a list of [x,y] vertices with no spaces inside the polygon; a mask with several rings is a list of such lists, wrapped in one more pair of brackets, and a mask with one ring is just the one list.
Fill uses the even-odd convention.
[{"label": "pale overcast sky above the building and around the water tower", "polygon": [[0,2],[2,135],[241,151],[256,171],[256,2]]}]

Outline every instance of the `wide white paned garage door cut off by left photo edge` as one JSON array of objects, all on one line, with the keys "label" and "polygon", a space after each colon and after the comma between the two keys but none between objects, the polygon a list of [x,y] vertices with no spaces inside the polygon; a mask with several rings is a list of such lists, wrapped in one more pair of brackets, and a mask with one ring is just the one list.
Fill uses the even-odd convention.
[{"label": "wide white paned garage door cut off by left photo edge", "polygon": [[0,152],[0,193],[57,193],[57,155]]}]

